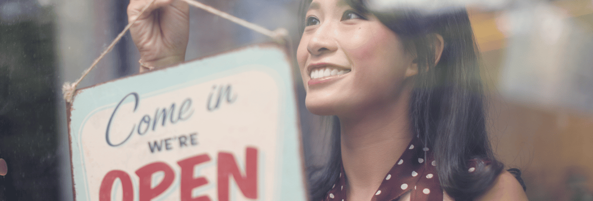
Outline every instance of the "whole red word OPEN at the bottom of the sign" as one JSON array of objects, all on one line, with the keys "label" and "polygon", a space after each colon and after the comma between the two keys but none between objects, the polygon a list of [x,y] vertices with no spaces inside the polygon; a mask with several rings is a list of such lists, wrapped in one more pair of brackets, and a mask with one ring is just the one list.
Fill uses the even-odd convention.
[{"label": "whole red word OPEN at the bottom of the sign", "polygon": [[[208,195],[201,195],[197,197],[192,196],[193,189],[208,184],[206,177],[194,177],[194,169],[196,165],[200,165],[211,161],[208,154],[196,155],[194,157],[182,159],[177,161],[181,168],[180,177],[180,200],[183,201],[211,201]],[[218,200],[228,201],[230,198],[229,185],[231,176],[234,178],[238,188],[243,193],[243,196],[248,199],[257,199],[257,149],[253,147],[246,148],[245,154],[245,170],[241,171],[237,165],[237,161],[232,153],[219,152],[218,153]],[[152,176],[155,173],[163,172],[164,176],[154,188],[152,184]],[[173,168],[165,162],[153,162],[136,170],[136,175],[139,178],[138,194],[139,201],[150,201],[153,198],[164,193],[176,177]],[[244,174],[242,174],[244,173]],[[122,170],[109,171],[103,177],[99,188],[99,200],[110,201],[111,191],[115,180],[119,178],[122,183],[122,200],[133,201],[135,189],[132,184],[130,176]]]}]

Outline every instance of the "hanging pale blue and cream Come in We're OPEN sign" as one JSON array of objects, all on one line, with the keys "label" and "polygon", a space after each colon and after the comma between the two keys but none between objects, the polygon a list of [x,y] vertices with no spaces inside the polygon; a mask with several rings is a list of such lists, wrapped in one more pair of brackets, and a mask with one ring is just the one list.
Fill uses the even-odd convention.
[{"label": "hanging pale blue and cream Come in We're OPEN sign", "polygon": [[290,59],[247,47],[77,90],[76,200],[305,200]]}]

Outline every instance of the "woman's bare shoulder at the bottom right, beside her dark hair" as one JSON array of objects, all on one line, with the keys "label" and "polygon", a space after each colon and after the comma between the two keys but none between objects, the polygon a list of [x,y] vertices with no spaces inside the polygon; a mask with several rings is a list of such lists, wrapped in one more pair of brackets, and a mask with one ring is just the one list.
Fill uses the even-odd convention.
[{"label": "woman's bare shoulder at the bottom right, beside her dark hair", "polygon": [[528,200],[523,186],[509,171],[502,171],[492,188],[476,200]]}]

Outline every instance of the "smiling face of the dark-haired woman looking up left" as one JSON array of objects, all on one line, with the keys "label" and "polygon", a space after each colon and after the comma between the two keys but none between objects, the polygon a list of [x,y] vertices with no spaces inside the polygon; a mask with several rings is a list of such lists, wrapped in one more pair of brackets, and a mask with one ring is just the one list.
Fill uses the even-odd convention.
[{"label": "smiling face of the dark-haired woman looking up left", "polygon": [[312,113],[351,116],[401,100],[416,63],[377,17],[344,0],[314,0],[305,18],[297,60]]}]

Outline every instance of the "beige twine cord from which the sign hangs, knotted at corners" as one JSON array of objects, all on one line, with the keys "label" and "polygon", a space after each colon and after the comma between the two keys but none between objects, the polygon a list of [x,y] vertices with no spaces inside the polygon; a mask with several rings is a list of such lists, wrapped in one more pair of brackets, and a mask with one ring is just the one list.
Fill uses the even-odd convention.
[{"label": "beige twine cord from which the sign hangs, knotted at corners", "polygon": [[[150,7],[152,4],[154,4],[155,1],[156,0],[152,0],[149,4],[147,4],[144,8],[142,8],[142,11],[140,11],[138,16],[141,16],[144,13],[144,11],[146,11],[146,9],[148,9],[148,7]],[[201,2],[197,2],[197,1],[193,1],[193,0],[179,0],[179,1],[187,2],[187,4],[189,4],[189,5],[193,5],[194,7],[204,9],[205,11],[208,11],[212,14],[218,15],[219,17],[225,18],[229,21],[232,21],[233,23],[237,23],[239,25],[242,25],[243,27],[246,27],[253,31],[256,31],[257,33],[261,33],[266,36],[269,36],[273,40],[275,40],[276,43],[284,44],[285,39],[288,38],[288,31],[285,28],[278,28],[274,31],[270,31],[267,28],[264,28],[260,25],[250,23],[250,22],[243,20],[241,18],[232,16],[226,12],[219,11],[218,9],[209,7],[208,5],[202,4]],[[78,84],[80,84],[82,79],[85,76],[87,76],[88,73],[91,72],[91,70],[93,68],[95,68],[95,66],[97,66],[97,63],[101,59],[103,59],[104,56],[108,52],[110,52],[113,49],[115,44],[117,44],[117,42],[119,42],[119,40],[122,39],[122,37],[126,33],[126,31],[129,30],[130,27],[132,27],[132,24],[136,23],[136,20],[138,20],[138,17],[136,17],[134,20],[130,21],[130,23],[128,23],[126,25],[126,27],[122,30],[122,32],[120,32],[117,35],[117,37],[113,40],[113,42],[111,42],[111,44],[109,44],[109,46],[107,46],[107,48],[101,53],[101,55],[99,55],[99,57],[97,59],[95,59],[93,64],[91,64],[91,66],[88,69],[86,69],[84,72],[82,72],[82,76],[80,78],[78,78],[74,83],[65,82],[62,85],[62,93],[64,95],[64,100],[66,100],[66,102],[72,103],[72,98],[74,98],[74,92],[76,91],[76,86],[78,86]],[[140,62],[140,63],[142,63],[142,62]]]}]

